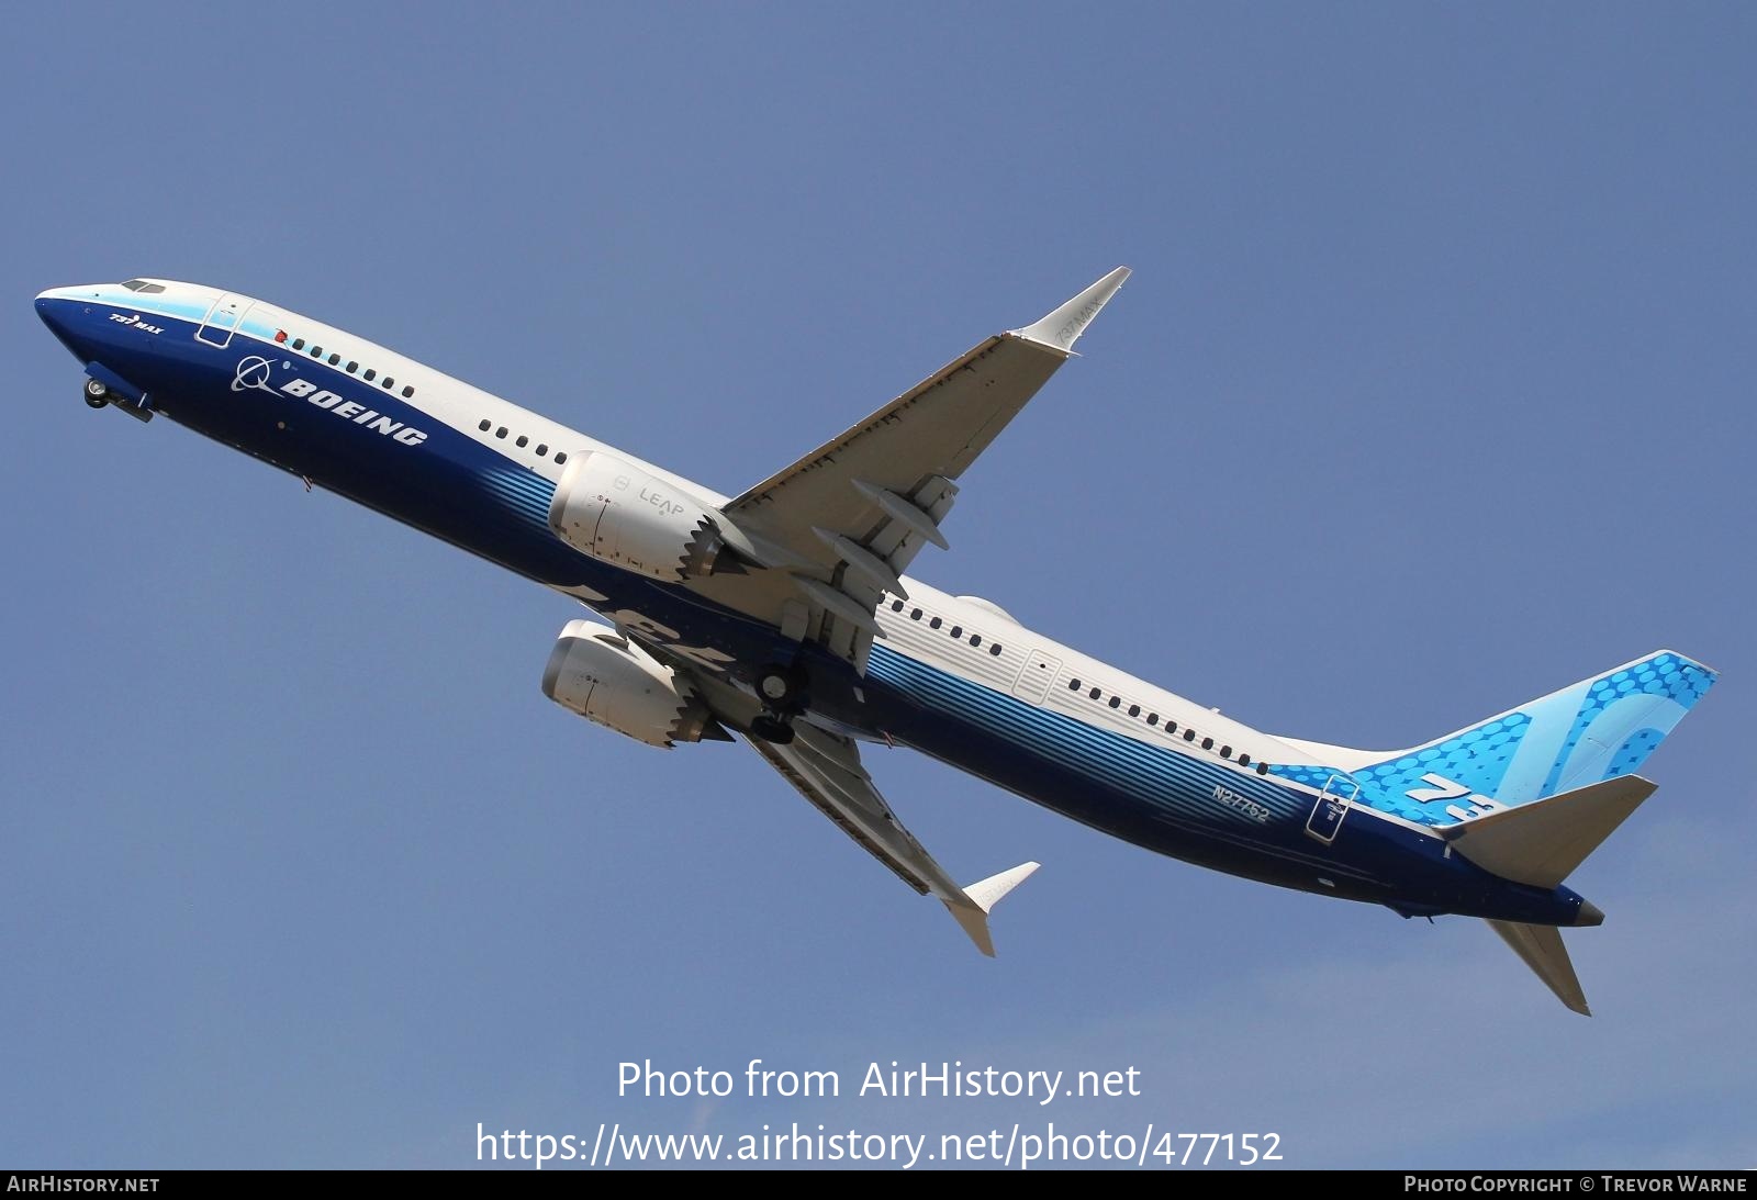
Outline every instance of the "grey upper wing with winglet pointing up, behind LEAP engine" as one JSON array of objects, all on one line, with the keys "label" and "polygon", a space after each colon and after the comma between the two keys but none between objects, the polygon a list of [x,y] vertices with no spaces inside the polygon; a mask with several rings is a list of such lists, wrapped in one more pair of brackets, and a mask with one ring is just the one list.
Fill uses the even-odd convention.
[{"label": "grey upper wing with winglet pointing up, behind LEAP engine", "polygon": [[726,532],[757,569],[691,589],[864,671],[878,599],[907,596],[900,576],[924,543],[947,545],[940,522],[958,476],[1072,357],[1124,279],[1117,267],[1035,325],[989,337],[729,501]]}]

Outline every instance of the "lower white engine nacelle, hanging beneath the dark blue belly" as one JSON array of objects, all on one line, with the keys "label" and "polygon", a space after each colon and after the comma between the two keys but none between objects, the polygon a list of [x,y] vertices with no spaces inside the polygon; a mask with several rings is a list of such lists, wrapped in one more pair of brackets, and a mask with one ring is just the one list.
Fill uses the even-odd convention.
[{"label": "lower white engine nacelle, hanging beneath the dark blue belly", "polygon": [[543,694],[647,745],[724,738],[687,680],[610,625],[569,620],[543,668]]}]

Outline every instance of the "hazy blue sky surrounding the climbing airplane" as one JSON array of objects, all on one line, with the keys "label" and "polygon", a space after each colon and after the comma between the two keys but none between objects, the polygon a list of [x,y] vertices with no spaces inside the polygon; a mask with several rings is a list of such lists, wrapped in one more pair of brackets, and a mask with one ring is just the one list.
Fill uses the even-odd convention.
[{"label": "hazy blue sky surrounding the climbing airplane", "polygon": [[[1070,12],[14,23],[0,1163],[459,1167],[478,1121],[1757,1160],[1757,18]],[[1609,914],[1569,935],[1594,1019],[1479,922],[1205,873],[871,755],[952,873],[1044,863],[982,959],[747,748],[545,701],[566,601],[90,413],[30,307],[225,285],[736,492],[1117,264],[915,575],[1348,745],[1662,645],[1718,668],[1571,878]],[[617,1096],[627,1059],[752,1058],[843,1096]],[[1142,1095],[849,1095],[891,1059],[1135,1066]]]}]

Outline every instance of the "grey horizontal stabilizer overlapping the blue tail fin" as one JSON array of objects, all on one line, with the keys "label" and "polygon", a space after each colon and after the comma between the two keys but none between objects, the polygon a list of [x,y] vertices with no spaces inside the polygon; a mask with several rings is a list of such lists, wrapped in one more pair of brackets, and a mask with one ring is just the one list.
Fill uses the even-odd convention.
[{"label": "grey horizontal stabilizer overlapping the blue tail fin", "polygon": [[1446,836],[1485,871],[1515,884],[1555,887],[1652,794],[1653,784],[1623,775],[1490,812],[1446,829]]}]

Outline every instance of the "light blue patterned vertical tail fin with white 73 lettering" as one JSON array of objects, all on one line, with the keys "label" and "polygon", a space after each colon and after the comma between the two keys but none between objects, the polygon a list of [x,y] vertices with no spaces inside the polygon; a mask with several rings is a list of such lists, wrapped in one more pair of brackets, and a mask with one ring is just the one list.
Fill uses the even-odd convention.
[{"label": "light blue patterned vertical tail fin with white 73 lettering", "polygon": [[1349,771],[1374,808],[1450,826],[1632,775],[1713,682],[1659,650],[1407,750],[1295,745]]}]

